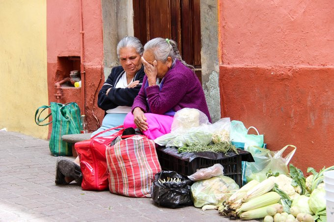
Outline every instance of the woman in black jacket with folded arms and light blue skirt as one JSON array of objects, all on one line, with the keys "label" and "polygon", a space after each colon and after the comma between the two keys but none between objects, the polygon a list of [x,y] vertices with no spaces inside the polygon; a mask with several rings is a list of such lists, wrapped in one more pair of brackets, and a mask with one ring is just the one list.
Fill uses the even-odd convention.
[{"label": "woman in black jacket with folded arms and light blue skirt", "polygon": [[[103,84],[99,96],[98,106],[106,111],[102,126],[92,133],[92,136],[105,129],[123,125],[127,113],[139,93],[144,78],[144,67],[141,64],[143,47],[138,38],[127,36],[117,45],[117,56],[121,66],[111,70],[107,81]],[[107,131],[98,136],[108,136],[115,130]],[[82,182],[80,161],[59,158],[56,163],[56,184],[69,184],[75,180]]]}]

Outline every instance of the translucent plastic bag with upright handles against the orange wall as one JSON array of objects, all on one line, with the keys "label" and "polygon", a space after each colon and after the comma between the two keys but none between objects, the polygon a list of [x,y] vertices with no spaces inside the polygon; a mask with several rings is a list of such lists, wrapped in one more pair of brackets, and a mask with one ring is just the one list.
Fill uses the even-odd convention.
[{"label": "translucent plastic bag with upright handles against the orange wall", "polygon": [[[283,157],[284,151],[292,147],[293,150]],[[270,151],[268,149],[259,147],[248,147],[246,151],[249,151],[253,156],[255,162],[246,163],[245,176],[247,181],[257,180],[259,182],[267,178],[266,173],[270,169],[274,174],[287,174],[289,173],[288,164],[296,152],[296,147],[287,145],[278,151]]]}]

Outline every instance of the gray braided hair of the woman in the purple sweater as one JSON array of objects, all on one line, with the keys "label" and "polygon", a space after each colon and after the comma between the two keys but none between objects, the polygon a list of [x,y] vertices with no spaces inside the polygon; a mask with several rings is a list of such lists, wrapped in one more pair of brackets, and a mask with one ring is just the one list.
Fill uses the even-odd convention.
[{"label": "gray braided hair of the woman in the purple sweater", "polygon": [[167,40],[160,37],[151,39],[145,44],[144,50],[152,50],[156,60],[166,62],[168,56],[170,56],[172,62],[174,62],[175,59],[180,60],[185,66],[193,71],[195,70],[193,66],[188,65],[182,60],[179,49],[177,49],[177,43],[174,40]]}]

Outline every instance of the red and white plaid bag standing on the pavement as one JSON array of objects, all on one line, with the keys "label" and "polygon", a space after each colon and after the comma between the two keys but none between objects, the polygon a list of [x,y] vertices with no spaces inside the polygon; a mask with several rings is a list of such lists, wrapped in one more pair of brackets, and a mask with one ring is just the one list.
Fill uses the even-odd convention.
[{"label": "red and white plaid bag standing on the pavement", "polygon": [[155,143],[135,135],[106,149],[109,190],[128,197],[151,197],[151,179],[161,172]]}]

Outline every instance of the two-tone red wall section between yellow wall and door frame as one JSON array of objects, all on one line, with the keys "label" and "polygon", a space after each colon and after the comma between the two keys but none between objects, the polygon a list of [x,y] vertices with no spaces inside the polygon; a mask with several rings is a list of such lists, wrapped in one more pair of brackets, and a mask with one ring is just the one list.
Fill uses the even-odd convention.
[{"label": "two-tone red wall section between yellow wall and door frame", "polygon": [[[88,130],[99,127],[104,112],[96,105],[97,94],[104,82],[102,10],[100,0],[82,0],[83,64],[85,71],[85,114]],[[80,70],[80,61],[68,56],[81,56],[80,0],[47,1],[47,61],[49,102],[57,101],[55,83]],[[83,113],[82,88],[64,86],[58,102],[77,102]]]}]

